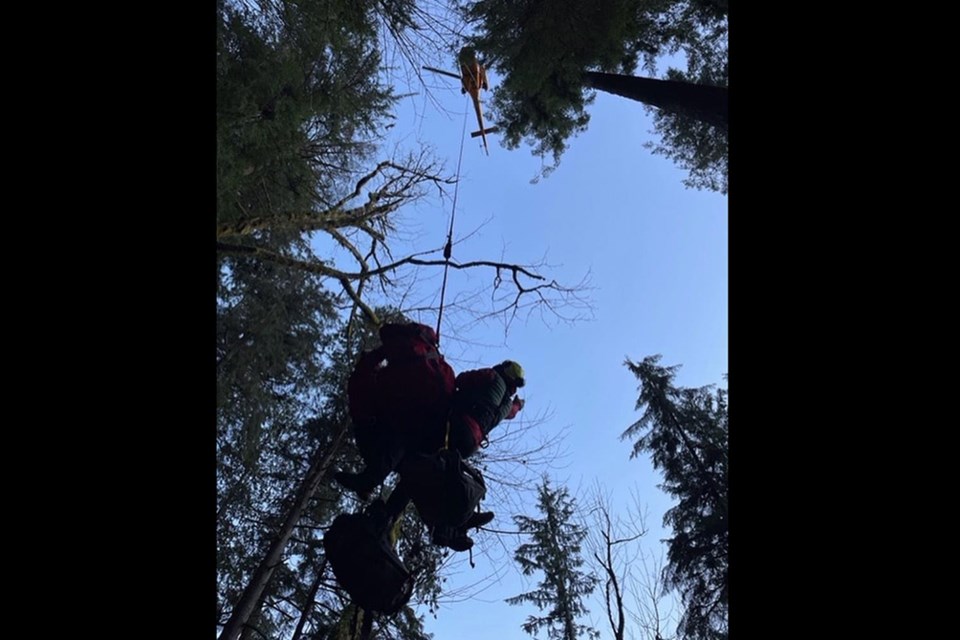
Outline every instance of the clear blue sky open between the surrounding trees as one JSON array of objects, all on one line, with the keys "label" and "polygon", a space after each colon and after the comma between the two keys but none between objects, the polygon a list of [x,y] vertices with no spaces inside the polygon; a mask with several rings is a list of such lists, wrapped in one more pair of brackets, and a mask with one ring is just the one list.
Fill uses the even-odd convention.
[{"label": "clear blue sky open between the surrounding trees", "polygon": [[[495,74],[490,83],[496,84]],[[403,101],[392,131],[405,147],[430,145],[452,171],[464,114],[468,131],[475,128],[475,118],[455,80],[449,79],[447,87],[447,79],[438,76],[430,86],[447,112],[419,88],[418,95]],[[494,475],[523,472],[535,479],[546,472],[581,504],[599,482],[622,509],[636,492],[648,509],[649,533],[642,545],[656,555],[659,541],[669,535],[661,522],[670,500],[656,488],[661,478],[649,460],[631,460],[630,443],[619,439],[640,417],[634,409],[637,381],[623,362],[659,353],[662,364],[682,365],[680,385],[725,385],[727,199],[685,188],[684,171],[643,148],[652,139],[652,122],[640,103],[598,93],[589,111],[587,131],[570,140],[559,168],[536,184],[531,179],[541,162],[529,147],[508,151],[493,134],[488,157],[479,139],[466,139],[454,237],[472,235],[455,247],[453,258],[519,264],[545,259],[550,266],[541,272],[566,284],[589,274],[592,289],[584,295],[593,305],[590,318],[569,324],[534,315],[516,320],[504,335],[498,321],[471,324],[455,310],[445,310],[441,349],[457,372],[505,358],[523,365],[528,384],[521,395],[527,405],[494,435],[523,427],[528,427],[527,442],[564,434],[561,453],[550,465],[517,469],[519,463],[504,463]],[[442,246],[450,210],[449,199],[433,197],[403,210],[406,246]],[[399,253],[396,246],[394,252]],[[436,299],[440,275],[439,270],[418,275],[417,290]],[[451,270],[448,304],[491,278],[489,271]],[[420,320],[435,325],[436,316],[424,314]],[[515,530],[509,517],[514,512],[536,515],[532,493],[502,487],[491,493],[484,503],[497,512],[491,528]],[[428,617],[427,631],[438,639],[529,637],[520,625],[536,609],[503,602],[536,584],[513,567],[517,536],[481,532],[474,537],[476,568],[466,564],[466,554],[458,554],[444,573],[447,588],[464,590],[467,599],[444,602],[436,620]],[[612,637],[604,628],[600,601],[588,605],[601,637]]]}]

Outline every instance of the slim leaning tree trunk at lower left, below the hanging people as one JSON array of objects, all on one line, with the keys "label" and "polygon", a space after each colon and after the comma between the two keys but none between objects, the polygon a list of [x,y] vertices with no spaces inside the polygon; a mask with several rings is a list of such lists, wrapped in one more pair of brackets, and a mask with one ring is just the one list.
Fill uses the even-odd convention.
[{"label": "slim leaning tree trunk at lower left, below the hanging people", "polygon": [[300,521],[300,516],[303,514],[310,498],[313,497],[313,494],[317,491],[317,487],[320,486],[320,481],[323,479],[324,474],[326,474],[334,454],[340,448],[346,432],[347,425],[341,425],[340,431],[334,436],[326,455],[321,455],[320,450],[317,451],[314,463],[310,466],[310,470],[307,472],[307,477],[304,478],[303,484],[300,485],[297,500],[290,507],[290,512],[287,513],[283,526],[280,527],[280,531],[277,533],[277,539],[273,545],[271,545],[267,555],[260,562],[260,566],[253,572],[250,583],[247,585],[247,588],[243,590],[240,601],[237,602],[233,608],[230,619],[227,620],[223,631],[220,632],[219,640],[237,640],[240,636],[240,631],[250,620],[253,612],[260,608],[263,602],[263,593],[266,590],[267,584],[270,582],[274,568],[280,564],[280,558],[283,555],[284,548],[287,546],[287,542],[290,541],[290,536],[293,535],[293,529],[297,522]]}]

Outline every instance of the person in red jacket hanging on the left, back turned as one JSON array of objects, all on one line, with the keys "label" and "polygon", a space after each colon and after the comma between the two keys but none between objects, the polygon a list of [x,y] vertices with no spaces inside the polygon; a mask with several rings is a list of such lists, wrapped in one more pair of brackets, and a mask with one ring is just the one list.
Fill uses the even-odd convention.
[{"label": "person in red jacket hanging on the left, back turned", "polygon": [[[370,497],[407,452],[427,450],[428,434],[445,424],[455,385],[432,328],[391,323],[379,334],[381,345],[360,357],[347,383],[354,440],[365,468],[334,475],[361,500]],[[402,495],[394,502],[402,504],[397,513],[406,506]]]}]

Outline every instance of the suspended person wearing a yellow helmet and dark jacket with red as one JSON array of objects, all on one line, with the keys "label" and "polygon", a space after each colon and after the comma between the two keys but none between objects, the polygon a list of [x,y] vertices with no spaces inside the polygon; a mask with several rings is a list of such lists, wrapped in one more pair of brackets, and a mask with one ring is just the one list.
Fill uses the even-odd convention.
[{"label": "suspended person wearing a yellow helmet and dark jacket with red", "polygon": [[[464,371],[456,378],[449,427],[444,425],[442,434],[435,433],[434,439],[442,437],[445,444],[466,460],[480,449],[497,425],[513,419],[523,409],[524,401],[517,390],[525,384],[523,368],[513,360],[504,360],[491,368]],[[473,546],[467,531],[482,527],[493,518],[493,512],[484,511],[474,513],[462,525],[437,527],[433,541],[456,551],[466,551]]]}]

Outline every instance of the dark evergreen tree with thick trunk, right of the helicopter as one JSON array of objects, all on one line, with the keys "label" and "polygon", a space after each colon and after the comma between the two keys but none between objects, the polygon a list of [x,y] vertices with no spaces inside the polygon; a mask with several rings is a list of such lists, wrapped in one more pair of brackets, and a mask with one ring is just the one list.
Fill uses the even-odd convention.
[{"label": "dark evergreen tree with thick trunk, right of the helicopter", "polygon": [[[586,129],[597,89],[655,108],[655,153],[690,170],[688,186],[726,191],[727,3],[723,0],[479,0],[461,4],[470,43],[502,76],[491,101],[509,148],[522,140],[559,163]],[[682,51],[666,80],[657,58]],[[722,159],[721,159],[722,158]]]}]

